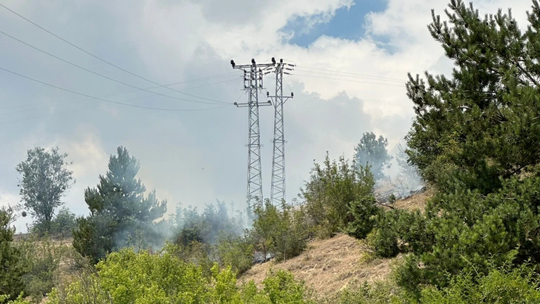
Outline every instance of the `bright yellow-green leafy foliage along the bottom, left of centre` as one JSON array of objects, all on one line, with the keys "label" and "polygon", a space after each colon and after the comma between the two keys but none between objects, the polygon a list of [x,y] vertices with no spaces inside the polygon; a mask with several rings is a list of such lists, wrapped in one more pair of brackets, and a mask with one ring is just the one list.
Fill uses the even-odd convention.
[{"label": "bright yellow-green leafy foliage along the bottom, left of centre", "polygon": [[65,289],[54,289],[49,303],[313,303],[303,283],[289,273],[271,273],[261,291],[252,282],[239,288],[230,267],[214,265],[207,278],[175,251],[168,245],[160,254],[126,248],[111,253],[98,263],[97,272],[79,276]]}]

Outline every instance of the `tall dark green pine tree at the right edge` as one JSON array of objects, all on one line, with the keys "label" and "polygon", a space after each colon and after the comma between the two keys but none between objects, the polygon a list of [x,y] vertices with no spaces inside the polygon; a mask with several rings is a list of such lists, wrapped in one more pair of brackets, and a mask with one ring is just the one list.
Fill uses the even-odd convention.
[{"label": "tall dark green pine tree at the right edge", "polygon": [[[456,67],[452,77],[409,75],[416,118],[407,136],[411,164],[442,190],[483,194],[499,177],[538,171],[540,164],[540,5],[533,1],[522,32],[511,11],[481,17],[451,0],[448,22],[432,11],[431,36]],[[459,180],[460,183],[454,181]]]}]

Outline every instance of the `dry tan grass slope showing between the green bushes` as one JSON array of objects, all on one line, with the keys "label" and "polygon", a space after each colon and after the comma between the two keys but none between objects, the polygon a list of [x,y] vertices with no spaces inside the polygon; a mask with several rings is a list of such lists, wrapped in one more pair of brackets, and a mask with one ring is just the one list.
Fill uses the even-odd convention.
[{"label": "dry tan grass slope showing between the green bushes", "polygon": [[[423,209],[431,191],[397,200],[395,207],[407,210]],[[240,282],[254,280],[260,287],[262,280],[271,269],[284,269],[293,273],[296,279],[306,282],[319,295],[330,295],[346,287],[353,280],[374,282],[384,280],[390,274],[396,259],[375,259],[363,261],[363,249],[359,240],[346,234],[339,234],[328,240],[316,240],[307,250],[286,262],[274,260],[254,265],[240,276]]]}]

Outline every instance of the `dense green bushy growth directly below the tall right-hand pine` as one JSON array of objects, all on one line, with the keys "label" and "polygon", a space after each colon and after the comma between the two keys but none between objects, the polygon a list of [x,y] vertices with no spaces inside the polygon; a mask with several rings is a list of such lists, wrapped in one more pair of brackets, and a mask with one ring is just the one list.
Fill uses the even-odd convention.
[{"label": "dense green bushy growth directly below the tall right-hand pine", "polygon": [[[398,269],[399,282],[410,292],[430,284],[444,287],[445,273],[484,275],[490,264],[540,262],[540,177],[503,182],[487,196],[478,191],[438,194],[407,232],[398,232],[413,256]],[[402,221],[404,222],[404,221]],[[419,233],[419,231],[422,233]],[[409,230],[410,231],[410,230]],[[422,265],[420,267],[420,265]]]}]

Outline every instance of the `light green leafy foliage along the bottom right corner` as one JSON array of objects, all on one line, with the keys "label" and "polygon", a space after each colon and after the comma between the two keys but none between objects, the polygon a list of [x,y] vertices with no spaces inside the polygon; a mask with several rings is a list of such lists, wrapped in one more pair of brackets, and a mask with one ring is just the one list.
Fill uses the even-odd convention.
[{"label": "light green leafy foliage along the bottom right corner", "polygon": [[501,267],[490,265],[485,275],[478,277],[471,272],[449,275],[445,288],[428,286],[420,298],[408,294],[393,279],[348,287],[334,296],[323,299],[325,304],[533,304],[540,303],[540,281],[530,265],[517,268],[510,264]]}]

